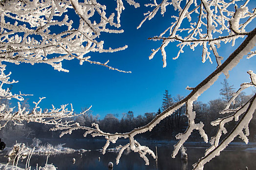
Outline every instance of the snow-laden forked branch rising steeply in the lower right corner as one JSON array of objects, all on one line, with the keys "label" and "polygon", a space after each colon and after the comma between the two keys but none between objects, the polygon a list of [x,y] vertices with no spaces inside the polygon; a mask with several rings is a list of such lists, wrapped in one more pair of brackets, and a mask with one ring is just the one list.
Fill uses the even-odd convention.
[{"label": "snow-laden forked branch rising steeply in the lower right corner", "polygon": [[[218,156],[221,151],[223,151],[230,142],[234,140],[236,136],[239,136],[246,144],[248,144],[249,136],[249,123],[253,118],[253,114],[256,110],[256,94],[245,104],[235,108],[229,109],[232,102],[235,102],[235,98],[240,94],[240,92],[248,87],[256,86],[256,74],[253,71],[249,70],[248,74],[250,75],[251,83],[243,83],[240,85],[240,88],[236,91],[233,98],[227,103],[227,106],[220,114],[232,113],[231,115],[219,118],[211,124],[213,126],[218,126],[218,131],[215,136],[211,138],[211,147],[208,148],[205,152],[205,156],[198,160],[196,164],[193,165],[194,170],[202,170],[204,165],[212,160],[215,156]],[[239,119],[240,117],[240,119]],[[234,129],[227,135],[225,138],[220,141],[222,134],[227,134],[227,129],[224,127],[225,124],[231,122],[235,119],[237,121]]]}]

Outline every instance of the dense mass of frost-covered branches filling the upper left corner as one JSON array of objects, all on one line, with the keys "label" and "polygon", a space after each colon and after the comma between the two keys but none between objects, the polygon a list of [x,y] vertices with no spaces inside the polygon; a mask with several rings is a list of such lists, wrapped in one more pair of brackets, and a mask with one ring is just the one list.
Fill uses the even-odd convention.
[{"label": "dense mass of frost-covered branches filling the upper left corner", "polygon": [[[104,41],[98,40],[101,33],[123,33],[119,30],[120,14],[124,7],[117,0],[115,14],[107,16],[106,5],[97,0],[6,0],[0,8],[0,61],[20,63],[45,63],[59,71],[62,61],[74,58],[83,62],[101,65],[121,72],[117,68],[90,60],[90,52],[115,52],[104,49]],[[130,5],[139,7],[133,0]],[[121,9],[121,12],[120,10]],[[113,29],[110,29],[113,28]]]}]

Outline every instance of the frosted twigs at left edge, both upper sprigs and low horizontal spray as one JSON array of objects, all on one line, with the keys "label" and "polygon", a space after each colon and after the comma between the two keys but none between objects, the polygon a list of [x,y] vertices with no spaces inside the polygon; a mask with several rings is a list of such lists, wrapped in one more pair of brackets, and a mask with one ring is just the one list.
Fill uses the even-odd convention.
[{"label": "frosted twigs at left edge, both upper sprigs and low horizontal spray", "polygon": [[[17,83],[18,81],[9,81],[11,72],[9,74],[5,74],[5,65],[1,65],[0,63],[0,99],[17,99],[19,101],[23,101],[22,96],[28,96],[25,94],[12,94],[9,88],[3,89],[4,84],[13,84]],[[16,111],[15,107],[9,108],[8,105],[1,103],[0,105],[0,129],[3,128],[9,121],[14,122],[14,125],[22,125],[23,121],[27,122],[37,122],[43,124],[51,124],[51,125],[58,125],[58,124],[68,124],[70,122],[62,122],[63,118],[70,118],[79,115],[85,114],[89,109],[81,112],[80,114],[74,114],[74,110],[71,104],[71,110],[68,110],[67,104],[62,105],[60,108],[55,108],[52,105],[52,109],[47,109],[42,111],[43,109],[40,108],[39,103],[44,98],[40,98],[38,102],[34,102],[35,107],[33,108],[32,112],[27,111],[25,107],[21,106],[21,103],[18,102],[18,111]]]}]

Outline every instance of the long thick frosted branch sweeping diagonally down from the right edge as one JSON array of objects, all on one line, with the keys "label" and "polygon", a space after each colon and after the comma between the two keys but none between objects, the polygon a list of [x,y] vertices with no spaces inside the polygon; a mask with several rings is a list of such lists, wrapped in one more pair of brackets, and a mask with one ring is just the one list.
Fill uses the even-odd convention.
[{"label": "long thick frosted branch sweeping diagonally down from the right edge", "polygon": [[[208,88],[210,88],[211,85],[218,79],[218,77],[221,75],[221,73],[224,73],[228,76],[228,72],[234,68],[240,59],[246,54],[248,54],[255,46],[256,43],[256,29],[251,31],[248,34],[248,37],[243,41],[243,43],[228,57],[228,59],[215,71],[213,71],[212,74],[210,74],[205,80],[203,80],[200,84],[198,84],[196,87],[192,88],[189,87],[188,89],[192,90],[192,92],[183,100],[175,103],[165,111],[163,111],[161,114],[157,115],[152,121],[150,121],[147,125],[133,129],[132,131],[128,133],[105,133],[100,130],[98,124],[93,123],[92,127],[85,127],[80,126],[79,123],[74,123],[71,126],[57,126],[51,130],[62,130],[61,136],[65,134],[71,134],[72,131],[77,129],[83,129],[85,130],[85,135],[90,134],[93,137],[95,136],[105,136],[107,142],[106,145],[103,147],[103,153],[106,152],[107,147],[109,146],[110,142],[115,143],[118,138],[128,138],[129,143],[121,146],[121,150],[119,151],[119,154],[117,156],[116,163],[119,162],[119,159],[121,157],[122,152],[125,148],[130,147],[130,149],[134,152],[137,152],[140,154],[140,156],[145,160],[146,165],[149,164],[148,158],[146,157],[146,153],[151,154],[153,157],[155,155],[153,152],[146,146],[141,146],[136,140],[134,140],[134,136],[137,134],[145,133],[147,131],[151,131],[160,121],[170,116],[172,113],[174,113],[177,109],[179,109],[181,106],[186,104],[187,106],[187,117],[189,121],[189,126],[187,130],[183,134],[178,134],[176,136],[177,139],[179,139],[178,143],[174,146],[174,150],[172,153],[172,157],[175,157],[175,155],[180,150],[183,143],[188,139],[188,137],[191,135],[191,132],[195,129],[198,130],[201,136],[204,138],[204,140],[207,142],[208,137],[205,134],[203,130],[204,124],[202,122],[195,123],[195,112],[192,111],[192,103],[197,100],[197,98]],[[254,75],[252,72],[249,71],[250,75]],[[252,76],[252,80],[254,82],[255,77]]]}]

